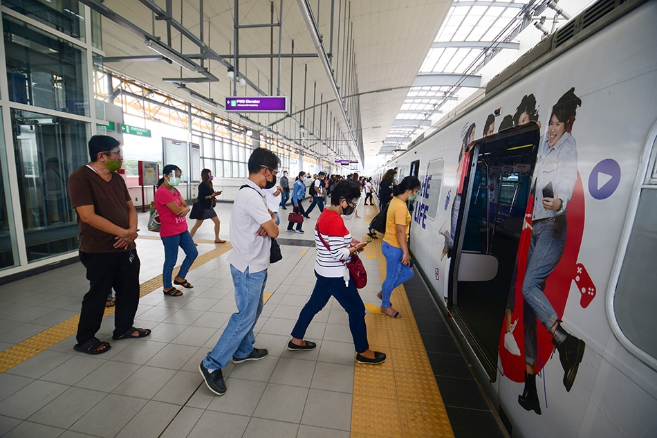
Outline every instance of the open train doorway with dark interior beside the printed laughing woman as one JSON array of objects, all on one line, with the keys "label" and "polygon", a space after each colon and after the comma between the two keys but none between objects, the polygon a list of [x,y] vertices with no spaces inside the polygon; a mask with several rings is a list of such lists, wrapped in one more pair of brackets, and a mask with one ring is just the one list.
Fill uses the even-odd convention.
[{"label": "open train doorway with dark interior beside the printed laughing woman", "polygon": [[[491,378],[539,144],[539,127],[482,138],[456,218],[449,302]],[[459,196],[459,195],[457,195]]]}]

